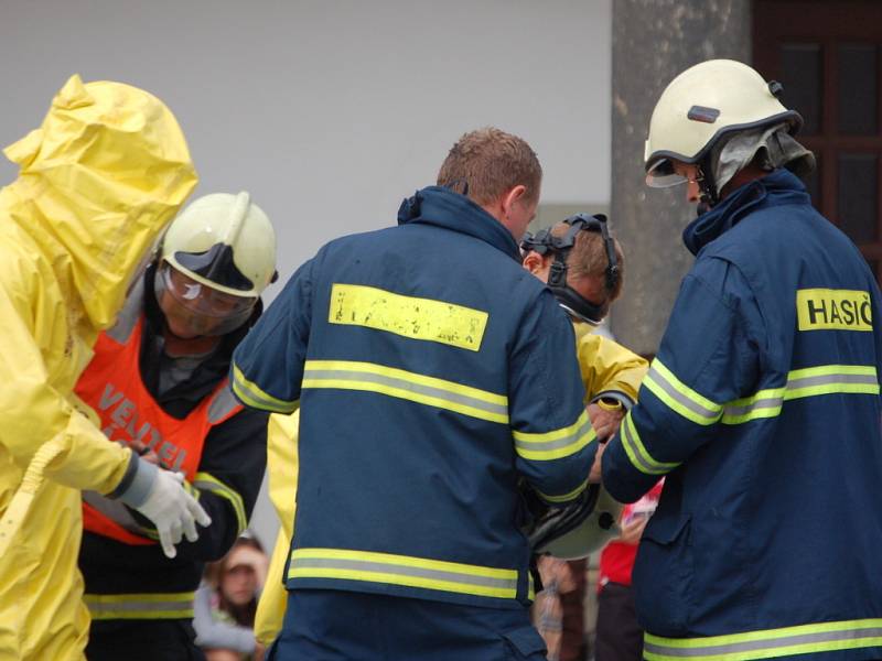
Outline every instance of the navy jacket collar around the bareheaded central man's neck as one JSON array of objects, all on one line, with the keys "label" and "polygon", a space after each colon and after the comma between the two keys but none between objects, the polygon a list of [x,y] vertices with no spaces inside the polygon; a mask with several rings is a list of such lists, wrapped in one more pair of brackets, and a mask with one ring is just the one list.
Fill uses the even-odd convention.
[{"label": "navy jacket collar around the bareheaded central man's neck", "polygon": [[441,186],[427,186],[401,203],[398,225],[420,223],[469,235],[520,262],[515,238],[496,218],[464,195]]}]

